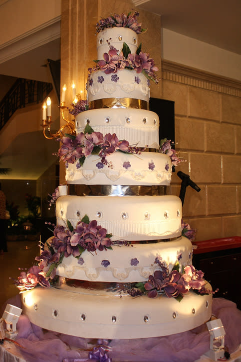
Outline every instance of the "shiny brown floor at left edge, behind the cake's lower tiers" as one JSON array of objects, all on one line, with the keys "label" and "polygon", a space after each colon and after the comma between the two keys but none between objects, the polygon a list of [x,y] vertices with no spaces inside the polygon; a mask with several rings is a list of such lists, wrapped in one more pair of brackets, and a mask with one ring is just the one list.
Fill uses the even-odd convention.
[{"label": "shiny brown floor at left edge, behind the cake's lower tiers", "polygon": [[10,297],[18,294],[18,289],[10,277],[16,278],[20,268],[29,268],[36,255],[39,255],[39,241],[8,241],[8,252],[0,255],[0,309]]}]

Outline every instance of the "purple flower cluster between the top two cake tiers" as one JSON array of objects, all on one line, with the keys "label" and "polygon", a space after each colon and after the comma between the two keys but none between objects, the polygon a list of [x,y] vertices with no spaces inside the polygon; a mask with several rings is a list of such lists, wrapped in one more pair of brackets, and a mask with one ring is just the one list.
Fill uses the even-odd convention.
[{"label": "purple flower cluster between the top two cake tiers", "polygon": [[[108,53],[104,53],[103,57],[104,59],[99,60],[97,64],[100,70],[103,70],[106,74],[116,73],[118,70],[125,68],[134,69],[137,73],[141,73],[144,70],[147,76],[158,83],[155,73],[158,67],[154,64],[154,60],[150,57],[149,53],[140,51],[139,54],[128,53],[127,57],[125,57],[123,51],[118,53],[117,49],[111,47]],[[139,84],[140,78],[138,76],[135,77],[135,81]]]}]

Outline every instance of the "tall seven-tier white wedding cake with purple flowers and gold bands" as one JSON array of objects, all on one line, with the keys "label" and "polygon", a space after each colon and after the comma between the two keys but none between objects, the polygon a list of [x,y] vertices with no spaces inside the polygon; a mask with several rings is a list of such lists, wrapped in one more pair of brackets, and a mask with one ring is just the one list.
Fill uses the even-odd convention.
[{"label": "tall seven-tier white wedding cake with purple flowers and gold bands", "polygon": [[59,151],[68,190],[59,188],[54,237],[18,281],[31,289],[22,294],[24,312],[47,329],[142,338],[211,316],[211,287],[181,235],[181,200],[166,194],[172,163],[159,151],[158,115],[148,110],[157,68],[138,46],[141,31],[136,13],[97,24],[88,110]]}]

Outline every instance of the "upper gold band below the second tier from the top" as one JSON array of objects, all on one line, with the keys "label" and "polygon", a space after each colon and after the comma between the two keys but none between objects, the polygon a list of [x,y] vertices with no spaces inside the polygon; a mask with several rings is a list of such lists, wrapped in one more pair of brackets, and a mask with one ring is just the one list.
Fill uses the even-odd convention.
[{"label": "upper gold band below the second tier from the top", "polygon": [[102,98],[95,99],[89,102],[89,109],[98,108],[139,108],[149,109],[149,102],[135,98]]}]

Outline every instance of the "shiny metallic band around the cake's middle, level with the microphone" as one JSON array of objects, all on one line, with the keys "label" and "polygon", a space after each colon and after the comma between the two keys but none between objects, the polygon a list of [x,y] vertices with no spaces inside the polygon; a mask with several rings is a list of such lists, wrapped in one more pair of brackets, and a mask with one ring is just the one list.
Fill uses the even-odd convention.
[{"label": "shiny metallic band around the cake's middle, level with the microphone", "polygon": [[167,194],[165,185],[80,185],[68,184],[68,195],[73,196],[162,196]]}]

